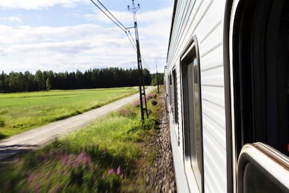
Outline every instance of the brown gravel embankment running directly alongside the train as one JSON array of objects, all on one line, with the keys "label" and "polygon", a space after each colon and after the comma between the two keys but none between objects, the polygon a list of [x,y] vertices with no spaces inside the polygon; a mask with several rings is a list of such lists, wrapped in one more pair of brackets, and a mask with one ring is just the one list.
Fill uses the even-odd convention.
[{"label": "brown gravel embankment running directly alongside the train", "polygon": [[157,116],[158,129],[142,143],[142,157],[131,175],[127,192],[177,192],[163,94],[158,95],[157,101],[161,106]]}]

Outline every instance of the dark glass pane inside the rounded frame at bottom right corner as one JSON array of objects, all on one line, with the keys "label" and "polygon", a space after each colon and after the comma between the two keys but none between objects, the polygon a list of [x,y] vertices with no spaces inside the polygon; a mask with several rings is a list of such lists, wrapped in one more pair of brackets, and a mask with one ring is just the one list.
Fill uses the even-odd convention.
[{"label": "dark glass pane inside the rounded frame at bottom right corner", "polygon": [[248,162],[244,169],[244,193],[284,192],[274,180],[270,179],[260,169]]}]

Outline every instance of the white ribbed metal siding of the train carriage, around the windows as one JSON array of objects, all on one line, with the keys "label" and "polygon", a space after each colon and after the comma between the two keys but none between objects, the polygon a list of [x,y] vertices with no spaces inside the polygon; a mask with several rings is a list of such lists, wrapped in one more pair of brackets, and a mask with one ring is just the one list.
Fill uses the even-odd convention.
[{"label": "white ribbed metal siding of the train carriage, around the windows", "polygon": [[[223,79],[224,0],[178,1],[172,29],[168,70],[178,80],[179,131],[182,131],[179,60],[191,38],[198,38],[200,51],[205,192],[226,192],[225,99]],[[180,142],[183,142],[180,133]],[[180,144],[180,156],[183,156]],[[183,163],[181,163],[183,164]]]}]

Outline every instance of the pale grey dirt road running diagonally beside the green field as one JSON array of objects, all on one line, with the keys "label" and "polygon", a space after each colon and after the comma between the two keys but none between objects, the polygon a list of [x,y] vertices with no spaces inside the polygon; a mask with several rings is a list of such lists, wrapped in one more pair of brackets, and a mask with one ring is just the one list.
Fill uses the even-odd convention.
[{"label": "pale grey dirt road running diagonally beside the green field", "polygon": [[[154,90],[154,87],[148,87],[146,93]],[[99,117],[103,117],[108,113],[126,106],[132,101],[139,100],[140,94],[133,94],[119,101],[114,101],[108,105],[90,110],[86,113],[70,117],[66,120],[52,122],[43,127],[31,129],[22,134],[17,134],[0,141],[0,161],[15,155],[24,150],[40,148],[41,146],[50,143],[55,138],[69,134],[71,131],[82,129],[91,124]]]}]

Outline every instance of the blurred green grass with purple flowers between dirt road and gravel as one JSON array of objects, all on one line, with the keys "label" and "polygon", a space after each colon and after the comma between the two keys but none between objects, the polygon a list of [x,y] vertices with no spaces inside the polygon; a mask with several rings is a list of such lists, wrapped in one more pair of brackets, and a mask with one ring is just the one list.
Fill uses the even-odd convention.
[{"label": "blurred green grass with purple flowers between dirt road and gravel", "polygon": [[[154,98],[149,94],[147,98]],[[141,144],[155,134],[159,106],[148,101],[149,119],[140,106],[97,120],[45,148],[29,152],[0,168],[3,192],[122,192],[131,183]],[[129,182],[128,182],[129,181]]]}]

